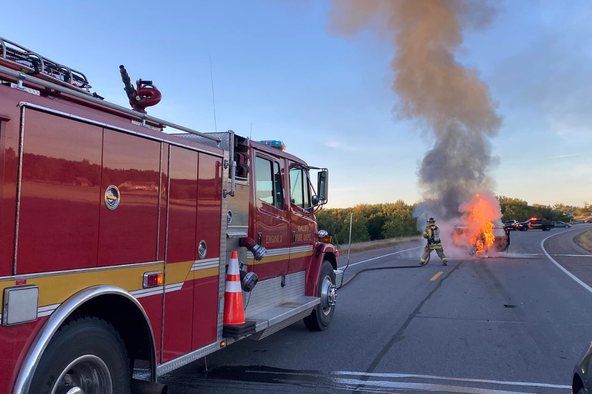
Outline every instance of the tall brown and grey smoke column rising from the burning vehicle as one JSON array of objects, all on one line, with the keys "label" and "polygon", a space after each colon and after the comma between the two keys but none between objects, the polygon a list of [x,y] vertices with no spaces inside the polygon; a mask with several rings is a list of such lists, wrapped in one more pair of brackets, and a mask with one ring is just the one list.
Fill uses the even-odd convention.
[{"label": "tall brown and grey smoke column rising from the burning vehicle", "polygon": [[496,14],[485,0],[333,0],[330,27],[337,34],[370,30],[394,47],[394,113],[417,119],[435,139],[419,168],[427,211],[459,217],[475,193],[491,191],[490,138],[501,118],[477,71],[458,63],[466,29],[487,27]]}]

